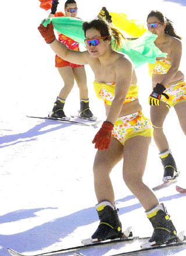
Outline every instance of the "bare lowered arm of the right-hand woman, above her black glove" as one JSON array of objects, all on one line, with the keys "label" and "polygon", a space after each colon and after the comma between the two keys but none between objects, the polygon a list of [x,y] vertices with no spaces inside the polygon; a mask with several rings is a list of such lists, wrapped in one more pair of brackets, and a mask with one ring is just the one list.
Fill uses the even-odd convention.
[{"label": "bare lowered arm of the right-hand woman, above her black glove", "polygon": [[182,45],[181,41],[175,40],[173,42],[173,49],[171,52],[171,67],[166,75],[163,77],[163,80],[160,84],[163,86],[167,86],[167,84],[171,83],[174,79],[174,76],[178,72],[178,68],[180,66],[181,61],[181,54],[182,54]]}]

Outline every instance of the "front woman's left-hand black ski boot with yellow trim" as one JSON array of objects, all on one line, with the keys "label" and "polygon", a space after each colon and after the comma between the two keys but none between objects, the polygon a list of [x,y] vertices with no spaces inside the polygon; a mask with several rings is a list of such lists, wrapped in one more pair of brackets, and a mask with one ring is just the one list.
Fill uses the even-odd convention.
[{"label": "front woman's left-hand black ski boot with yellow trim", "polygon": [[113,207],[109,201],[103,201],[96,205],[96,210],[100,223],[95,233],[92,234],[92,239],[103,241],[124,236],[116,207]]}]

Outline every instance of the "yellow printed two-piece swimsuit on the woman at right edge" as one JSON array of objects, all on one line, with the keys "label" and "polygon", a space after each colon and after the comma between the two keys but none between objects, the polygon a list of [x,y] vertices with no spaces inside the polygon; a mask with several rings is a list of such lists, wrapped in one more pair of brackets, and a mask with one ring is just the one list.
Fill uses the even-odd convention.
[{"label": "yellow printed two-piece swimsuit on the woman at right edge", "polygon": [[[154,64],[149,63],[149,73],[151,74],[166,74],[171,67],[170,59],[158,59]],[[186,83],[184,80],[177,81],[176,83],[169,84],[165,86],[166,90],[163,93],[166,93],[169,96],[169,99],[162,95],[160,101],[166,103],[168,108],[175,106],[177,103],[186,101]]]}]

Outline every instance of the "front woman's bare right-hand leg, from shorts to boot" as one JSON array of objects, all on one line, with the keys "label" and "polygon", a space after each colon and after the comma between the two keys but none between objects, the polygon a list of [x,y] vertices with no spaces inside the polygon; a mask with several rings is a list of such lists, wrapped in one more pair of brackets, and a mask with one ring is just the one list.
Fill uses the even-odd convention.
[{"label": "front woman's bare right-hand leg, from shorts to boot", "polygon": [[159,204],[158,198],[142,180],[150,137],[135,136],[124,144],[123,179],[146,211]]}]

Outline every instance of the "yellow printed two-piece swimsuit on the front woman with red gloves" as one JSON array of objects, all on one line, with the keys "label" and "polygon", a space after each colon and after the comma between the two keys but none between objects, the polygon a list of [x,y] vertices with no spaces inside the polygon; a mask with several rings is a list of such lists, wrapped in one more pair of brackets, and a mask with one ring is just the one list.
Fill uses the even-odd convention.
[{"label": "yellow printed two-piece swimsuit on the front woman with red gloves", "polygon": [[[103,99],[106,105],[111,105],[115,98],[115,83],[102,83],[94,81],[94,89],[99,99]],[[131,84],[123,104],[138,98],[138,86]],[[153,136],[152,123],[145,118],[141,111],[118,118],[112,130],[112,137],[124,145],[128,138],[134,136]]]}]

